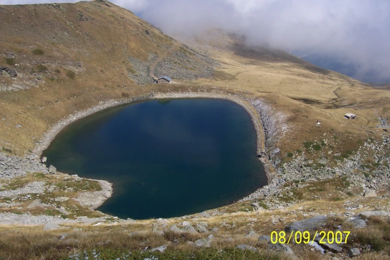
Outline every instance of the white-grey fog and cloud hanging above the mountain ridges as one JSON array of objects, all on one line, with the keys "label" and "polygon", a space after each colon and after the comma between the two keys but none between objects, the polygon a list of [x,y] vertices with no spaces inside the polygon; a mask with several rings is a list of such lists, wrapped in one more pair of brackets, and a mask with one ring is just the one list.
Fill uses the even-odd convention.
[{"label": "white-grey fog and cloud hanging above the mountain ridges", "polygon": [[[0,0],[0,4],[42,2],[47,1]],[[390,82],[389,0],[112,2],[173,36],[216,27],[238,31],[250,44],[282,48],[359,80]]]}]

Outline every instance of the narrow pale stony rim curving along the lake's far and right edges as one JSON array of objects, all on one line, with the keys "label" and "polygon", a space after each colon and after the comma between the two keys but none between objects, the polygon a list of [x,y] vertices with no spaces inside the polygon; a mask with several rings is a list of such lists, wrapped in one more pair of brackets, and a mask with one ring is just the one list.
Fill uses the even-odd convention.
[{"label": "narrow pale stony rim curving along the lake's far and right edges", "polygon": [[[273,179],[273,169],[271,163],[268,161],[268,157],[266,156],[265,151],[265,134],[261,122],[260,112],[256,109],[256,107],[251,104],[250,102],[240,98],[238,95],[234,94],[217,94],[217,93],[199,93],[199,92],[182,92],[182,93],[158,93],[158,94],[150,94],[146,96],[139,96],[132,99],[124,99],[124,100],[109,100],[106,102],[101,102],[98,105],[84,110],[76,112],[73,115],[69,115],[67,118],[60,120],[57,124],[55,124],[53,127],[51,127],[41,138],[39,141],[39,144],[35,146],[33,150],[34,157],[40,161],[42,152],[50,145],[51,141],[54,140],[54,138],[57,136],[57,134],[69,126],[70,124],[87,117],[89,115],[95,114],[99,111],[116,107],[120,105],[125,104],[131,104],[141,101],[147,101],[147,100],[157,100],[157,99],[186,99],[186,98],[208,98],[208,99],[223,99],[228,100],[231,102],[234,102],[241,107],[243,107],[246,112],[251,116],[253,125],[255,127],[256,133],[257,133],[257,155],[259,157],[259,160],[261,161],[265,175],[267,177],[267,185],[263,187],[259,187],[256,191],[251,193],[245,198],[242,198],[238,201],[245,200],[246,198],[251,198],[253,195],[258,194],[260,189],[268,186],[272,179]],[[55,165],[54,165],[55,166]],[[98,180],[99,181],[99,180]],[[107,182],[107,181],[105,181]],[[99,198],[99,206],[102,205],[107,199],[109,199],[112,196],[113,190],[110,191],[110,194],[106,193],[106,199],[102,200]],[[109,195],[109,196],[107,196]],[[93,198],[90,198],[93,200]],[[91,201],[90,203],[94,203]]]}]

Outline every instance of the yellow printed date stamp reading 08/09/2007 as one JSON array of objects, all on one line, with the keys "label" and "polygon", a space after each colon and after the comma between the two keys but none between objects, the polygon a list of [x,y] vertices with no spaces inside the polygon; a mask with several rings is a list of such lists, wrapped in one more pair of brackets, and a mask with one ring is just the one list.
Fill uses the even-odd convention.
[{"label": "yellow printed date stamp reading 08/09/2007", "polygon": [[[289,236],[284,231],[271,232],[271,243],[276,244],[313,244],[316,241],[318,244],[347,244],[348,236],[351,234],[350,231],[316,231],[314,236],[310,234],[308,231],[300,232],[291,232]],[[292,241],[291,241],[292,239]]]}]

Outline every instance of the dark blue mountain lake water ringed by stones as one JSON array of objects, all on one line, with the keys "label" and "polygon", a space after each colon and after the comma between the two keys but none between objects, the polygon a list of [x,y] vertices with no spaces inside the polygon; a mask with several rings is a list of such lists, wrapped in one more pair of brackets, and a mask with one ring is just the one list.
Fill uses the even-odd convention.
[{"label": "dark blue mountain lake water ringed by stones", "polygon": [[251,117],[236,103],[152,100],[73,123],[43,155],[61,172],[114,183],[98,210],[168,218],[228,205],[266,185],[256,143]]}]

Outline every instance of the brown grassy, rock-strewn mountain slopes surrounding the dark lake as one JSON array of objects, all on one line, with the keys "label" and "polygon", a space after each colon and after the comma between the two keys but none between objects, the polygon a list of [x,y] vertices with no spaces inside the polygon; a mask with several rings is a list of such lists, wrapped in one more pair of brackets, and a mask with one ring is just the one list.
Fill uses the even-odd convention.
[{"label": "brown grassy, rock-strewn mountain slopes surrounding the dark lake", "polygon": [[[1,259],[291,259],[259,236],[317,215],[328,216],[321,230],[351,231],[351,243],[327,253],[347,259],[358,248],[356,259],[389,259],[389,86],[374,88],[220,30],[189,47],[105,0],[0,5],[0,20]],[[164,74],[174,84],[151,84]],[[101,183],[49,175],[33,156],[20,158],[64,119],[153,95],[239,100],[260,129],[261,120],[269,185],[183,219],[120,220],[77,202],[80,193],[101,192]],[[363,219],[366,228],[351,224],[370,210],[385,213]],[[55,225],[42,231],[47,222]],[[149,251],[162,245],[165,255]],[[289,246],[298,259],[335,256]]]}]

